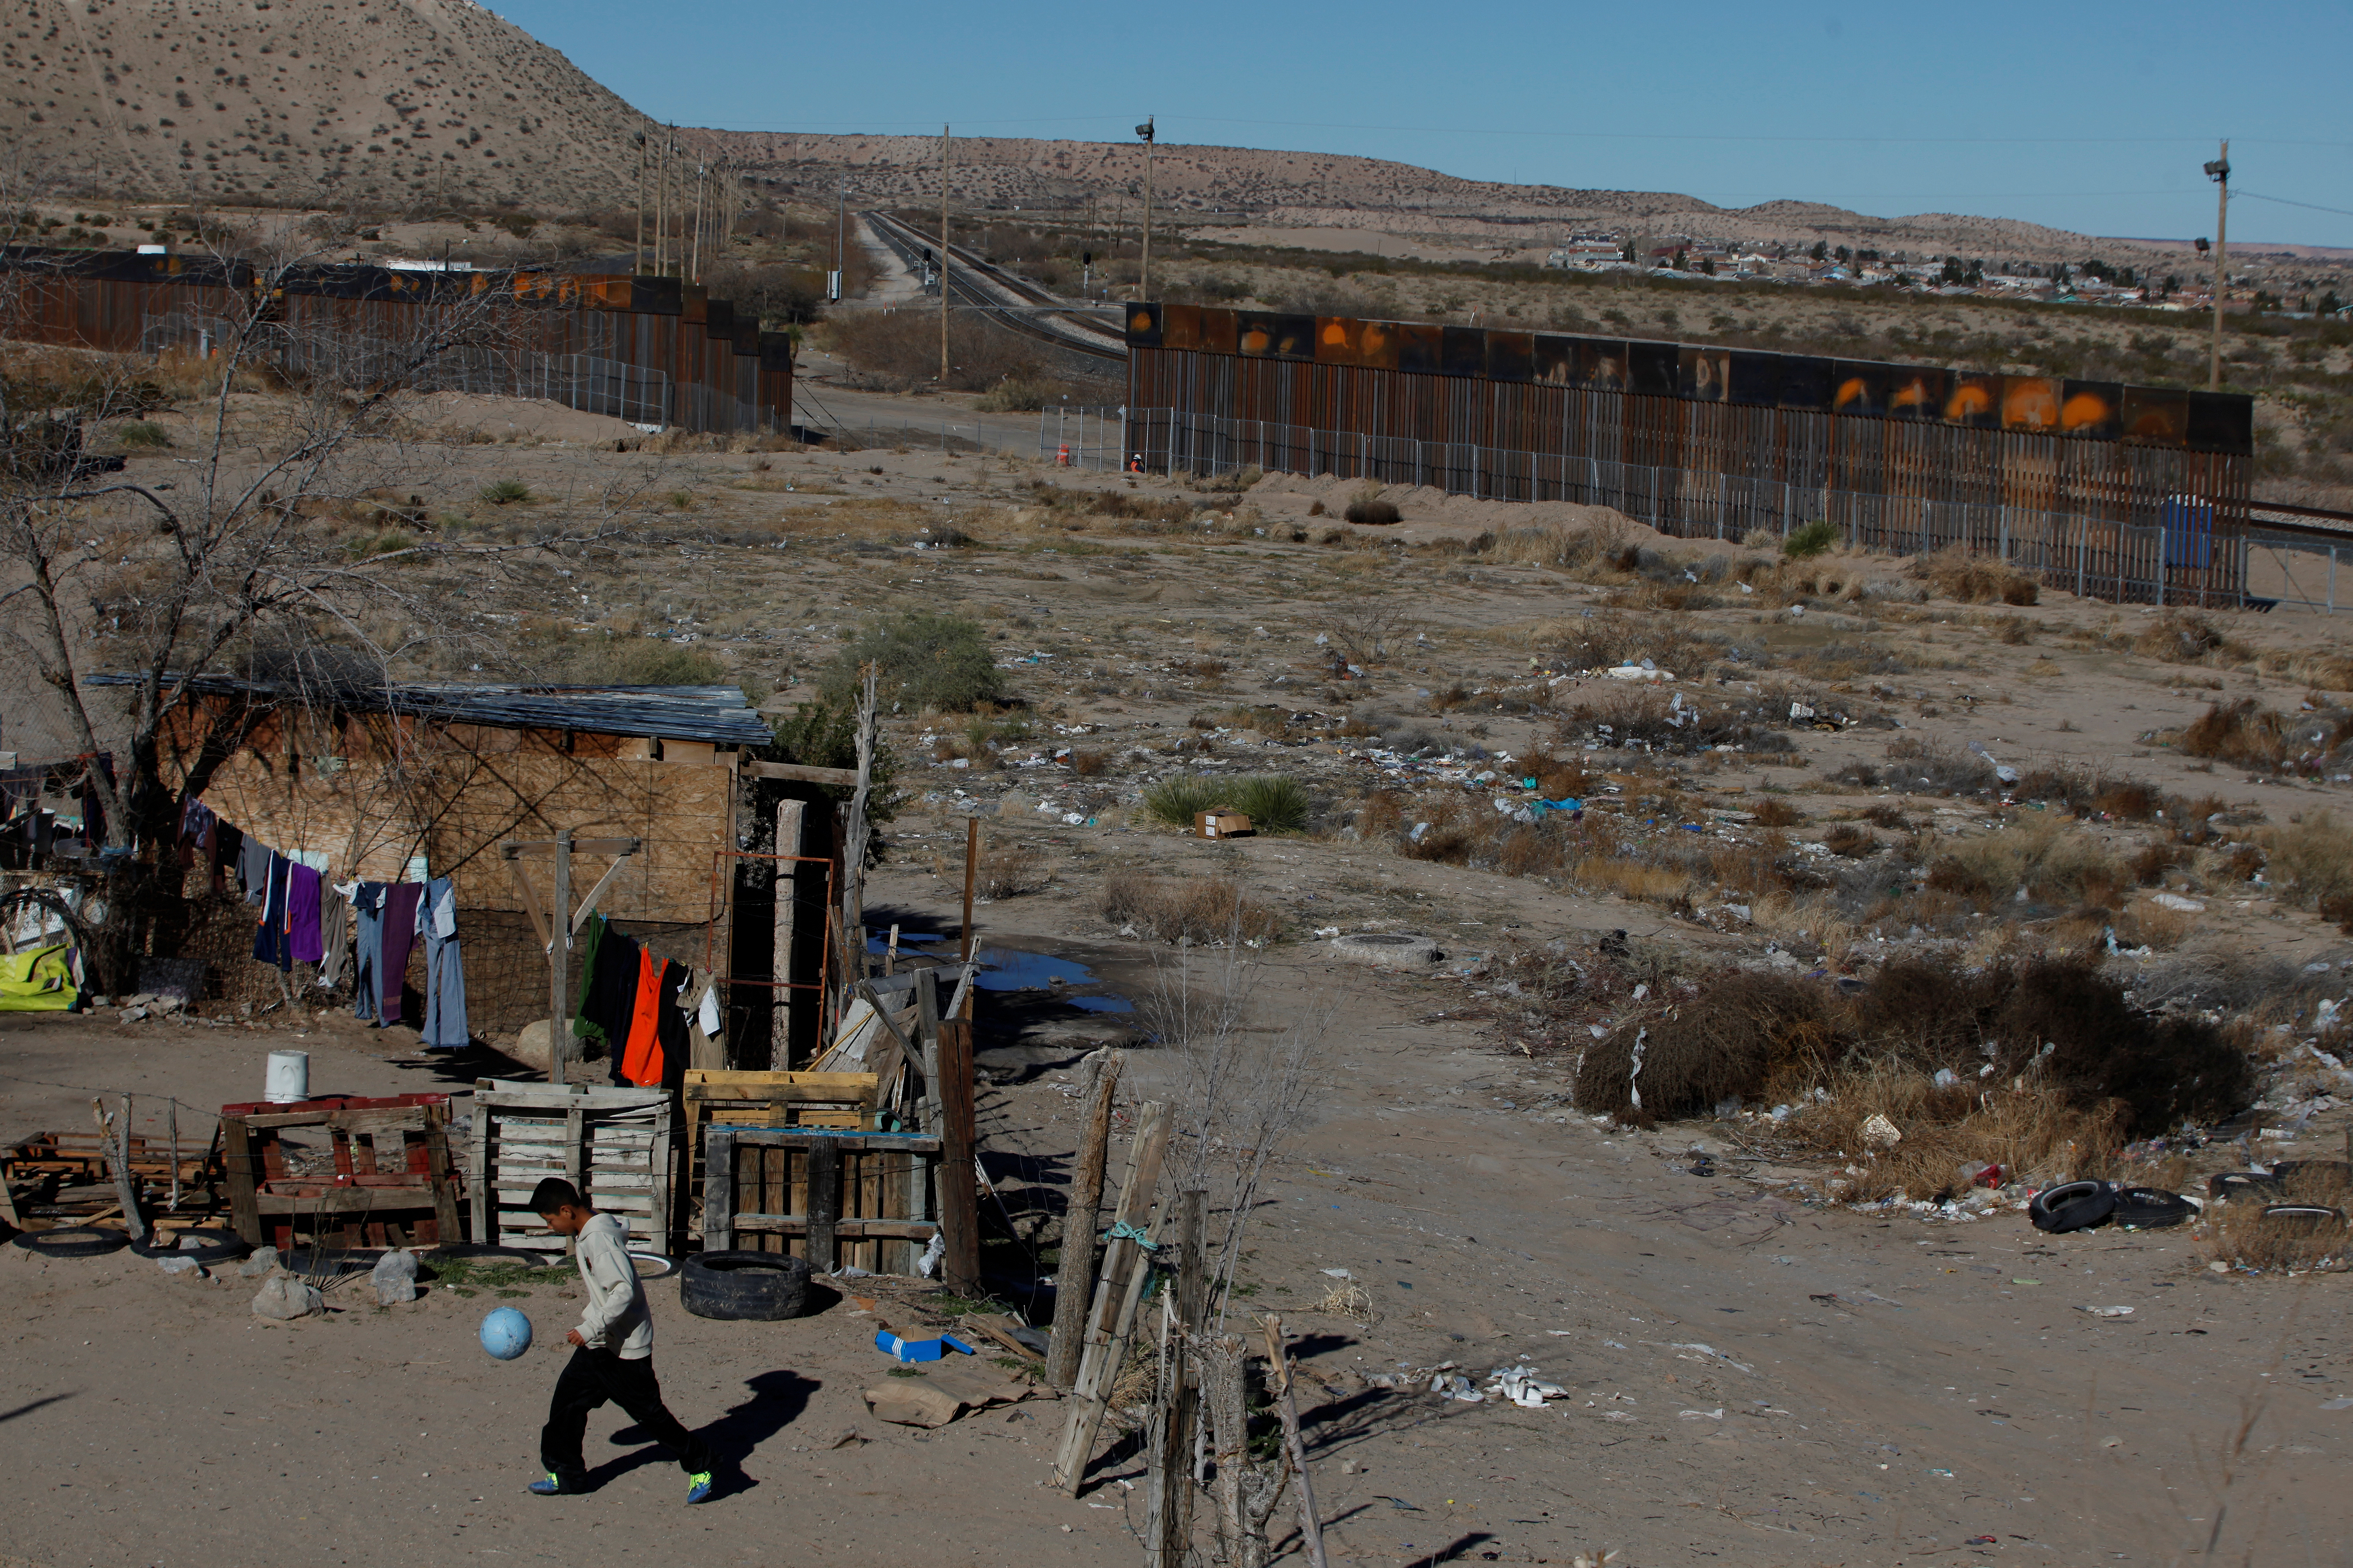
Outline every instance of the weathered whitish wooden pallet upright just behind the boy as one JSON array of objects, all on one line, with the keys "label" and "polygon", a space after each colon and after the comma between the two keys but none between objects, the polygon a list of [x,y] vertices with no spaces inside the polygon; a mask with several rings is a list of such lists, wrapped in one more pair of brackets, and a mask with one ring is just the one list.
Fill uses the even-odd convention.
[{"label": "weathered whitish wooden pallet upright just behind the boy", "polygon": [[532,1213],[532,1187],[560,1175],[598,1213],[628,1225],[628,1244],[671,1251],[671,1093],[593,1084],[499,1084],[473,1091],[473,1239],[567,1248]]}]

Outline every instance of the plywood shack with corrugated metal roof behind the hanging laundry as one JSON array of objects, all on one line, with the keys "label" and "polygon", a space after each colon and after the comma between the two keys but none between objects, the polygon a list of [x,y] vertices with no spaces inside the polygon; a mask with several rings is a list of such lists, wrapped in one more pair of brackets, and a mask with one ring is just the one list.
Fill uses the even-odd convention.
[{"label": "plywood shack with corrugated metal roof behind the hanging laundry", "polygon": [[598,907],[664,957],[729,950],[720,851],[736,846],[741,759],[769,741],[736,686],[195,677],[191,689],[165,776],[224,823],[325,856],[334,882],[456,882],[478,1037],[548,1013],[546,957],[504,842],[567,827],[642,839]]}]

